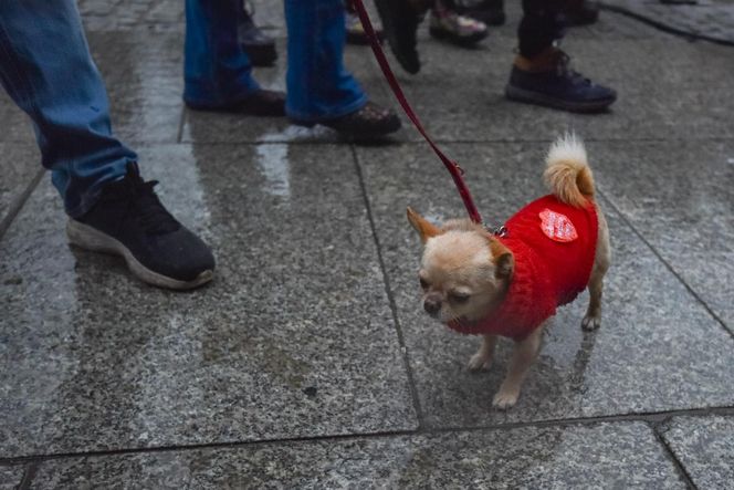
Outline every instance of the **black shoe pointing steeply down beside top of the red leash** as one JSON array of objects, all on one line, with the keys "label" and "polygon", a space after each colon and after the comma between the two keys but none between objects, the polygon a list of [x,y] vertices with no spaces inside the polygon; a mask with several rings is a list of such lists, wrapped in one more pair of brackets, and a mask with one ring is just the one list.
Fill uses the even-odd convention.
[{"label": "black shoe pointing steeply down beside top of the red leash", "polygon": [[402,69],[416,74],[420,71],[420,60],[416,49],[416,32],[424,11],[416,10],[409,0],[375,0],[380,14],[385,37],[395,58]]}]

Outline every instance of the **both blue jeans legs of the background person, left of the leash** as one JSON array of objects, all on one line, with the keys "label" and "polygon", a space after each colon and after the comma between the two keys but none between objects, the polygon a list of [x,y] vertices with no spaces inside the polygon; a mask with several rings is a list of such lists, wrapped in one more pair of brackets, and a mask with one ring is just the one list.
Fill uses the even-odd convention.
[{"label": "both blue jeans legs of the background person, left of the leash", "polygon": [[[186,0],[184,98],[199,107],[237,103],[260,90],[237,37],[242,0]],[[289,116],[318,122],[357,111],[367,95],[343,63],[342,0],[285,0]]]}]

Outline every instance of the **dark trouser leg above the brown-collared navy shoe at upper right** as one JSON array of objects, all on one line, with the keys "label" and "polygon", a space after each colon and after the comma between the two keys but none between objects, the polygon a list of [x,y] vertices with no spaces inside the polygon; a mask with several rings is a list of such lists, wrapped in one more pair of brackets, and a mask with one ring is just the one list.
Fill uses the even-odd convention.
[{"label": "dark trouser leg above the brown-collared navy shoe at upper right", "polygon": [[520,54],[534,58],[564,37],[566,0],[523,0],[523,19],[517,28]]}]

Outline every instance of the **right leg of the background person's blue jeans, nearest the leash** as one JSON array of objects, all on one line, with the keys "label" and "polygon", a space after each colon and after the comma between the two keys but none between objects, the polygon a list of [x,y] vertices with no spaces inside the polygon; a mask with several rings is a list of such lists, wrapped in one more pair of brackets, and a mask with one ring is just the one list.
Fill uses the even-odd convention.
[{"label": "right leg of the background person's blue jeans, nearest the leash", "polygon": [[285,0],[285,21],[289,116],[318,122],[364,106],[367,95],[343,62],[346,35],[343,0]]}]

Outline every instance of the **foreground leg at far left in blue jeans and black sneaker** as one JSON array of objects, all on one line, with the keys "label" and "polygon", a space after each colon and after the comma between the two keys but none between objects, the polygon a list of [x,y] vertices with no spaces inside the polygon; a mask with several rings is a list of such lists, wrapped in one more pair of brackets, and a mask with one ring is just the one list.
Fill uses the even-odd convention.
[{"label": "foreground leg at far left in blue jeans and black sneaker", "polygon": [[112,135],[107,94],[73,0],[0,2],[0,81],[33,121],[70,215],[71,243],[119,254],[158,286],[211,280],[209,247],[166,210],[135,153]]}]

